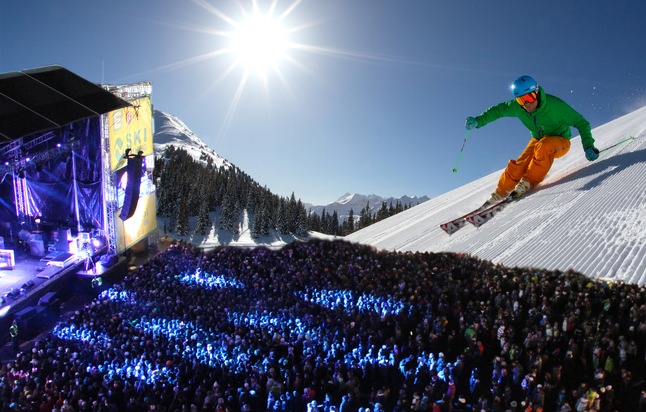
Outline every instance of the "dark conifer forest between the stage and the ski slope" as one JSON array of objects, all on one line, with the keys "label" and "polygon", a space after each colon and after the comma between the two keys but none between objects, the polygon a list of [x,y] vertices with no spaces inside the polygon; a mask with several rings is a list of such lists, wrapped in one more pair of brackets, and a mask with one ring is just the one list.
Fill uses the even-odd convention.
[{"label": "dark conifer forest between the stage and the ski slope", "polygon": [[[297,236],[307,236],[309,231],[345,236],[410,207],[384,202],[373,215],[367,204],[358,218],[350,210],[350,215],[339,222],[336,211],[327,213],[324,209],[321,216],[308,213],[294,193],[289,199],[277,196],[235,166],[216,167],[208,156],[201,160],[206,166],[174,146],[155,159],[157,214],[167,218],[168,232],[205,235],[216,228],[238,234],[246,211],[254,238],[268,236],[272,230]],[[209,213],[216,210],[220,218],[212,222]],[[192,229],[190,216],[197,216]]]}]

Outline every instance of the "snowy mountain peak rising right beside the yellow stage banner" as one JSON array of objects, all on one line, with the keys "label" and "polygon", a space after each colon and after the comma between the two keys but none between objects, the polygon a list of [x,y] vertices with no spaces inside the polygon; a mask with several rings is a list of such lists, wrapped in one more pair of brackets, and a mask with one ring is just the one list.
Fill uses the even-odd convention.
[{"label": "snowy mountain peak rising right beside the yellow stage banner", "polygon": [[177,117],[168,113],[154,111],[155,115],[155,156],[161,157],[169,146],[188,152],[196,162],[207,165],[209,161],[216,167],[233,165],[208,147],[191,129]]}]

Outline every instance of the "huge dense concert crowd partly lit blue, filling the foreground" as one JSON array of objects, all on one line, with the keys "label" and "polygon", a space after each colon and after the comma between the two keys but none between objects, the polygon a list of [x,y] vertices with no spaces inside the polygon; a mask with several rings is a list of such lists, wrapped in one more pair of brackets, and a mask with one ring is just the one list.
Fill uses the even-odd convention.
[{"label": "huge dense concert crowd partly lit blue, filling the foreground", "polygon": [[0,411],[646,411],[645,288],[344,241],[176,243],[0,370]]}]

